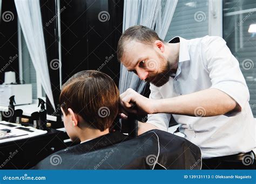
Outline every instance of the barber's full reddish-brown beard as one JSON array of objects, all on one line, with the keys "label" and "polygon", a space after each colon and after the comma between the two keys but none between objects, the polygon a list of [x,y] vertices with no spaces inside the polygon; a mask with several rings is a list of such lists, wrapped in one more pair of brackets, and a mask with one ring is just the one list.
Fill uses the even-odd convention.
[{"label": "barber's full reddish-brown beard", "polygon": [[171,75],[171,67],[170,67],[169,61],[167,61],[163,72],[150,77],[151,79],[147,80],[147,82],[151,82],[156,87],[161,87],[169,81],[170,75]]}]

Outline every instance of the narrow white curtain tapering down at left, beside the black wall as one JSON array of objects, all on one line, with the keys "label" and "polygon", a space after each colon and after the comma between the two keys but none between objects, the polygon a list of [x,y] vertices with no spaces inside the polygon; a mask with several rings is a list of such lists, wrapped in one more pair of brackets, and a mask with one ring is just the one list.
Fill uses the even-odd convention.
[{"label": "narrow white curtain tapering down at left, beside the black wall", "polygon": [[41,79],[45,94],[48,96],[53,109],[55,109],[46,59],[39,0],[15,0],[15,6],[33,66]]}]

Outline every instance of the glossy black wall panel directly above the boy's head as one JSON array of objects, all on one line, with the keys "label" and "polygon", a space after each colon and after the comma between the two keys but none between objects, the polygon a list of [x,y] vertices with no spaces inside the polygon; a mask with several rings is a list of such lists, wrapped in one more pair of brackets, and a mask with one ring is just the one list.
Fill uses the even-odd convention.
[{"label": "glossy black wall panel directly above the boy's head", "polygon": [[[73,0],[68,4],[61,1],[60,7],[63,6],[66,7],[61,13],[63,82],[81,70],[99,69],[118,84],[120,66],[116,48],[122,34],[123,1]],[[102,11],[109,13],[105,13],[105,19],[99,19]],[[107,65],[101,67],[105,60]]]}]

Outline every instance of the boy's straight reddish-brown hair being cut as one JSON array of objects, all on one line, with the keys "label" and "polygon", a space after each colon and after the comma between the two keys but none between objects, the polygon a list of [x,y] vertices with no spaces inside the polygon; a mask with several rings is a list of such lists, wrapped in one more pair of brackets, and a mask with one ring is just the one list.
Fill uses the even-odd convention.
[{"label": "boy's straight reddish-brown hair being cut", "polygon": [[63,85],[59,96],[65,115],[71,108],[92,128],[104,131],[118,114],[119,90],[110,76],[96,70],[73,75]]}]

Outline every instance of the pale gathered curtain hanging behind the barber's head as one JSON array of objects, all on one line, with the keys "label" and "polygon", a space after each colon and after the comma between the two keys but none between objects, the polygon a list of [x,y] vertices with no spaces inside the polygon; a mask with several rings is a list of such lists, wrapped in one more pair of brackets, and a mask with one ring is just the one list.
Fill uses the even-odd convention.
[{"label": "pale gathered curtain hanging behind the barber's head", "polygon": [[[178,0],[125,0],[123,32],[133,25],[144,25],[158,33],[164,40],[171,24],[174,10]],[[121,64],[119,90],[123,93],[126,89],[132,88],[142,93],[146,83],[139,77],[128,72]]]}]

